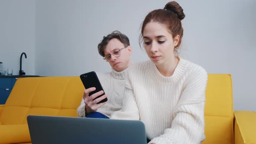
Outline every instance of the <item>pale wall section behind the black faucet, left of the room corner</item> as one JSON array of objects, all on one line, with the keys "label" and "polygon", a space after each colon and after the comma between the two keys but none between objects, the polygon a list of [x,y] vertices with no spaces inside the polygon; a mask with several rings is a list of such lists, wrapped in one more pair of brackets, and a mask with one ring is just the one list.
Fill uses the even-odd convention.
[{"label": "pale wall section behind the black faucet, left of the room corner", "polygon": [[0,70],[13,69],[19,75],[20,55],[26,75],[35,74],[34,0],[0,0]]}]

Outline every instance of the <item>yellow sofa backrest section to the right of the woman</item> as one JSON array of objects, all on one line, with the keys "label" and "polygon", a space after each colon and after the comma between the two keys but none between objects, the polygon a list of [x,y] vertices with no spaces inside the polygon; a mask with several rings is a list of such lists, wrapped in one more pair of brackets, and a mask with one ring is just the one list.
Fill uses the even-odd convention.
[{"label": "yellow sofa backrest section to the right of the woman", "polygon": [[233,144],[233,94],[229,74],[208,74],[202,144]]}]

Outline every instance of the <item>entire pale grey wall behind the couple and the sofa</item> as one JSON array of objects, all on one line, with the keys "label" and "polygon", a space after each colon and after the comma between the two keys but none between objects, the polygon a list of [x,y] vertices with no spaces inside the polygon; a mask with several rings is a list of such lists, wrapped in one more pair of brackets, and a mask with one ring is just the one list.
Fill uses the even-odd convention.
[{"label": "entire pale grey wall behind the couple and the sofa", "polygon": [[[2,55],[4,58],[0,61],[6,65],[6,61],[12,60],[7,55],[19,51],[14,56],[15,62],[10,63],[14,65],[24,51],[20,47],[32,47],[33,16],[36,14],[35,75],[41,76],[78,76],[92,70],[110,71],[110,66],[98,55],[97,45],[103,36],[113,30],[119,30],[130,38],[133,48],[132,62],[148,59],[138,45],[140,24],[148,12],[163,8],[168,2],[36,0],[35,13],[33,0],[16,0],[15,3],[13,0],[8,1],[10,2],[0,1],[0,16],[11,19],[9,22],[4,21],[4,26],[0,24],[1,31],[5,27],[9,29],[5,32],[7,40],[3,40],[5,35],[0,33],[1,51],[4,49],[5,52],[4,55],[0,52],[0,59]],[[208,73],[230,73],[233,79],[234,110],[256,111],[256,0],[177,2],[186,14],[182,21],[184,39],[181,56],[203,66]],[[5,6],[11,3],[11,8]],[[20,10],[22,6],[25,8]],[[9,9],[12,10],[11,18],[2,13]],[[22,19],[19,19],[20,15]],[[18,29],[18,26],[21,28]],[[6,41],[14,41],[15,46]],[[29,58],[33,57],[33,49],[27,51],[28,59],[23,60],[32,62],[33,59]],[[29,72],[25,69],[26,65],[29,64],[24,62],[23,70]]]}]

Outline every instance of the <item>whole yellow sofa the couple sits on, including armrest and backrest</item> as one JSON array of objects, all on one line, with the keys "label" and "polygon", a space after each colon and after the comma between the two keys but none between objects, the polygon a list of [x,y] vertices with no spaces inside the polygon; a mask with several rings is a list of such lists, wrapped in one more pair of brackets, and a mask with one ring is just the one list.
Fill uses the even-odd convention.
[{"label": "whole yellow sofa the couple sits on, including armrest and backrest", "polygon": [[[27,115],[76,117],[84,87],[79,77],[19,78],[0,105],[0,144],[31,143]],[[256,113],[233,111],[231,75],[209,74],[203,144],[256,144]]]}]

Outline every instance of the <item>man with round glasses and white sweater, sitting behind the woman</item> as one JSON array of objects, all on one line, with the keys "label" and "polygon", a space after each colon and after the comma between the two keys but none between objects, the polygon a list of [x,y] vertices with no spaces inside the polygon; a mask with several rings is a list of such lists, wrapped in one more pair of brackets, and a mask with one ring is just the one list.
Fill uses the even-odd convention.
[{"label": "man with round glasses and white sweater, sitting behind the woman", "polygon": [[[109,118],[114,111],[122,107],[125,88],[125,75],[131,65],[131,46],[127,36],[114,31],[108,36],[103,36],[98,44],[98,52],[112,67],[112,72],[97,73],[105,95],[94,99],[103,92],[97,92],[91,96],[89,93],[95,88],[87,88],[83,93],[81,105],[77,108],[78,117]],[[108,101],[97,104],[108,97]]]}]

